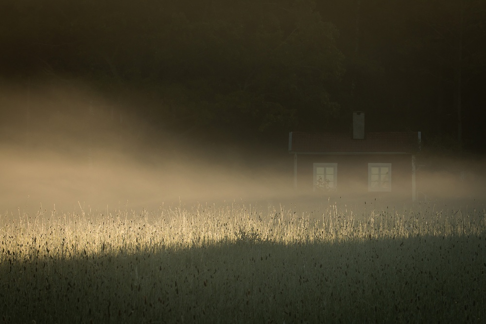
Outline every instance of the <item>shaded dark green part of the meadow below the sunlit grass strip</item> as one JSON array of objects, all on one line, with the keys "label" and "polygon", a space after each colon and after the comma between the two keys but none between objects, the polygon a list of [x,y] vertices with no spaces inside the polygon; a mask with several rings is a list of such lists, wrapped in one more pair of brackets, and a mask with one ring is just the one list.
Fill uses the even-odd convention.
[{"label": "shaded dark green part of the meadow below the sunlit grass strip", "polygon": [[295,244],[240,236],[192,248],[103,243],[75,256],[33,247],[28,255],[2,251],[3,323],[486,320],[485,233]]}]

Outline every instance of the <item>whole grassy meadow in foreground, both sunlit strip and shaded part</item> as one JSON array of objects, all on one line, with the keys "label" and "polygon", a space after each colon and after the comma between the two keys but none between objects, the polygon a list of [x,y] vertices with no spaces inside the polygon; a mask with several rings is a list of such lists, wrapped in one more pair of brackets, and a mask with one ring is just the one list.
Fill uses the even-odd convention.
[{"label": "whole grassy meadow in foreground, both sunlit strip and shaded part", "polygon": [[0,322],[486,320],[484,210],[297,210],[5,214]]}]

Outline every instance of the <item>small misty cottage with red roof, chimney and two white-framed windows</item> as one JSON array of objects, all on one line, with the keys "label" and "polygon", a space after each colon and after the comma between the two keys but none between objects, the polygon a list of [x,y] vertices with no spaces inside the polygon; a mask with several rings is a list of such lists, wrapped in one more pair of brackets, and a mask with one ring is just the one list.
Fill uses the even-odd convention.
[{"label": "small misty cottage with red roof, chimney and two white-framed windows", "polygon": [[420,132],[365,133],[364,112],[352,133],[289,133],[294,187],[330,196],[416,200],[415,156]]}]

